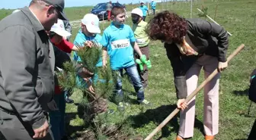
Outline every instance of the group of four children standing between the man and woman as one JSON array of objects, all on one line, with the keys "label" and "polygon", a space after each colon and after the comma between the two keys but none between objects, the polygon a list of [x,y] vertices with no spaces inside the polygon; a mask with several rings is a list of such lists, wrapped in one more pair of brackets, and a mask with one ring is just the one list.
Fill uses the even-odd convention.
[{"label": "group of four children standing between the man and woman", "polygon": [[[97,45],[102,46],[102,58],[100,58],[96,67],[107,67],[107,55],[109,56],[110,68],[113,76],[115,76],[114,79],[117,80],[114,95],[119,98],[116,101],[118,110],[125,110],[122,90],[123,70],[126,70],[133,83],[138,103],[151,106],[152,104],[145,99],[144,95],[144,89],[148,86],[148,69],[145,66],[140,70],[135,61],[135,59],[149,60],[149,36],[146,34],[147,23],[143,21],[145,16],[140,8],[134,9],[132,11],[133,27],[131,28],[125,24],[126,11],[122,7],[113,7],[110,15],[112,23],[104,30],[103,36],[100,35],[100,21],[94,14],[85,14],[85,17],[82,18],[81,28],[75,36],[74,43],[66,40],[66,37],[71,36],[71,34],[65,30],[62,20],[58,20],[53,25],[48,35],[53,45],[57,48],[66,53],[74,51],[73,60],[78,62],[81,61],[81,58],[76,53],[79,49],[77,45],[91,47],[93,43],[97,43]],[[59,68],[56,67],[56,70],[59,70]],[[97,73],[94,73],[94,76],[97,76]],[[88,83],[79,74],[77,81],[80,85],[83,84],[79,82]],[[51,129],[54,138],[63,139],[66,136],[64,125],[66,107],[64,92],[66,91],[59,89],[57,83],[56,79],[56,93],[53,98],[56,103],[56,110],[50,111],[50,124],[52,125]],[[93,90],[91,89],[90,91],[93,92]]]}]

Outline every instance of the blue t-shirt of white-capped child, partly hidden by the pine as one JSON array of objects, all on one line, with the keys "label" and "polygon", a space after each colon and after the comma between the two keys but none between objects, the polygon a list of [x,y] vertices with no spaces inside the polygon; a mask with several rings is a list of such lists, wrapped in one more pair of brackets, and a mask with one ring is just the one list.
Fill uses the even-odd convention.
[{"label": "blue t-shirt of white-capped child, partly hidden by the pine", "polygon": [[[98,45],[101,45],[101,35],[97,34],[94,37],[88,37],[85,36],[84,33],[82,33],[82,30],[78,31],[78,34],[75,36],[74,44],[83,45],[85,41],[91,41],[98,43]],[[76,52],[74,52],[74,60],[75,61],[81,61],[81,58],[78,56]],[[96,67],[102,67],[102,58],[100,57],[98,63],[96,64]]]}]

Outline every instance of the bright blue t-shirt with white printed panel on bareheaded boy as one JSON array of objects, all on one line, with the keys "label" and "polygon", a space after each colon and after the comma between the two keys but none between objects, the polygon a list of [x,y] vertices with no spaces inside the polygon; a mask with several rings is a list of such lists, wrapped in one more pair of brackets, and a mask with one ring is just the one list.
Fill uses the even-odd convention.
[{"label": "bright blue t-shirt with white printed panel on bareheaded boy", "polygon": [[135,64],[131,42],[136,42],[136,39],[133,30],[126,24],[118,29],[111,23],[104,30],[101,45],[107,48],[112,70],[120,70]]}]

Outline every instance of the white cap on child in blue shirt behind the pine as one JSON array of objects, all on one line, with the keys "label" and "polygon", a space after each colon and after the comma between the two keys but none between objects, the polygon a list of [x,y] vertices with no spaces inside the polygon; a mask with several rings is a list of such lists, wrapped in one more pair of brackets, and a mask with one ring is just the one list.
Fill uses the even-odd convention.
[{"label": "white cap on child in blue shirt behind the pine", "polygon": [[100,20],[95,14],[85,14],[85,17],[81,21],[85,24],[88,32],[101,33]]}]

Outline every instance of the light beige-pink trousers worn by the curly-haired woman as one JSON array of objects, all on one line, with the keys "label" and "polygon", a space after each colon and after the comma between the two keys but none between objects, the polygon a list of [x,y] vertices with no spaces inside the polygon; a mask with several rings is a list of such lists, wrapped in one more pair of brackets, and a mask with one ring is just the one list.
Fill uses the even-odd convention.
[{"label": "light beige-pink trousers worn by the curly-haired woman", "polygon": [[[204,78],[208,77],[218,67],[218,59],[210,55],[203,55],[190,67],[186,73],[187,95],[197,89],[200,70],[203,67]],[[204,86],[203,128],[206,135],[216,135],[219,131],[219,76],[218,73]],[[180,129],[178,135],[190,138],[194,135],[195,98],[188,104],[187,109],[181,111]]]}]

